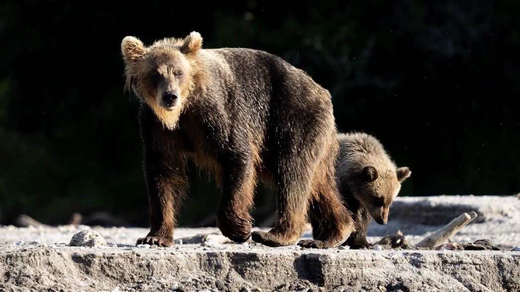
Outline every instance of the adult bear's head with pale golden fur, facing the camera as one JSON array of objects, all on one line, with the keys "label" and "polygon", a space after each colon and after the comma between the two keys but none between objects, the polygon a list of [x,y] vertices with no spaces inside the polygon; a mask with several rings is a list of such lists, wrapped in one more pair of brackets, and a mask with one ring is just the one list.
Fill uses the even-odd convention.
[{"label": "adult bear's head with pale golden fur, facing the camera", "polygon": [[127,36],[121,43],[126,66],[125,89],[133,89],[168,129],[177,126],[189,106],[190,95],[203,78],[198,53],[202,37],[192,32],[185,38],[164,38],[146,47]]}]

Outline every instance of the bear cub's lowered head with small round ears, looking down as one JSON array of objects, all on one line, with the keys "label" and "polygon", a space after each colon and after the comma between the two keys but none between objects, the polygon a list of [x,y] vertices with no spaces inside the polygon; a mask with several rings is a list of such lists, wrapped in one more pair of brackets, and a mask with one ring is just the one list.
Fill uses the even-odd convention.
[{"label": "bear cub's lowered head with small round ears, looking down", "polygon": [[401,182],[410,177],[410,169],[367,165],[356,175],[358,183],[351,184],[350,191],[375,222],[386,224],[390,205],[401,189]]}]

